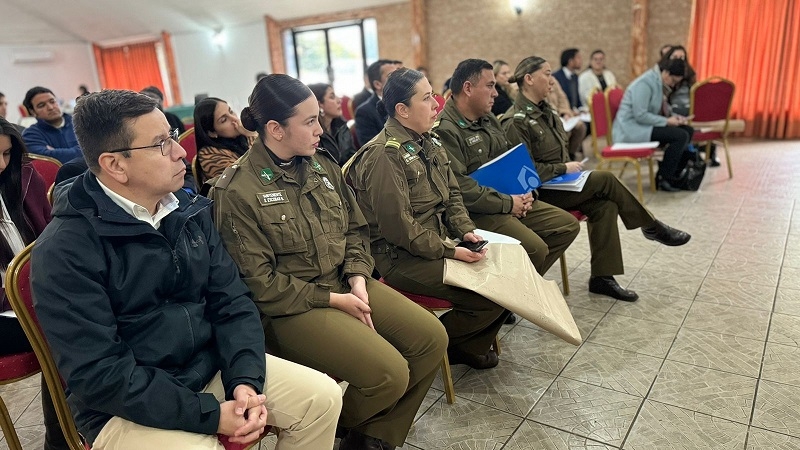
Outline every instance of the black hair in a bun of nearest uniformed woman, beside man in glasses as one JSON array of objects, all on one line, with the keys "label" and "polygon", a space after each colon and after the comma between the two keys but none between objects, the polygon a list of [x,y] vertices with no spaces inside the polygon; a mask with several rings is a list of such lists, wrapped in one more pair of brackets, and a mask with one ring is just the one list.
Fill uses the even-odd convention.
[{"label": "black hair in a bun of nearest uniformed woman, beside man in glasses", "polygon": [[250,131],[264,134],[270,120],[286,126],[297,111],[297,105],[314,95],[300,80],[282,73],[267,75],[256,83],[250,94],[249,106],[242,110],[242,125]]}]

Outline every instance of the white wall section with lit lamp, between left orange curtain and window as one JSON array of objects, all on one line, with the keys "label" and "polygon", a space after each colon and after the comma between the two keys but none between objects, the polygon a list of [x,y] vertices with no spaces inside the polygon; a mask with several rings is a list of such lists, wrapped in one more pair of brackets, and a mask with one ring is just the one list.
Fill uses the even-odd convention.
[{"label": "white wall section with lit lamp, between left orange curtain and window", "polygon": [[178,82],[184,104],[207,93],[237,113],[247,106],[258,72],[271,72],[267,27],[263,20],[223,29],[225,43],[211,41],[212,32],[173,35]]}]

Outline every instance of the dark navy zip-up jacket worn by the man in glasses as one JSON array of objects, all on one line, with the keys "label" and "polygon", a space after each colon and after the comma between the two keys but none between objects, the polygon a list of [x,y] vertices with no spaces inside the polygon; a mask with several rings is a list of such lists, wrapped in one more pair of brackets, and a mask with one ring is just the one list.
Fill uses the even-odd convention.
[{"label": "dark navy zip-up jacket worn by the man in glasses", "polygon": [[86,172],[60,186],[33,249],[34,306],[78,430],[94,442],[112,416],[214,434],[219,402],[200,391],[222,371],[261,392],[264,334],[211,221],[211,201],[175,192],[158,230]]}]

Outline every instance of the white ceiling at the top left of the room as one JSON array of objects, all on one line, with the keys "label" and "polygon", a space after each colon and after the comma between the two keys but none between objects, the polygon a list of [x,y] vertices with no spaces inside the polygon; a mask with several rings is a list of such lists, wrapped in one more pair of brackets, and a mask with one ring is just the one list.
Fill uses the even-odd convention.
[{"label": "white ceiling at the top left of the room", "polygon": [[0,44],[109,44],[407,0],[0,0]]}]

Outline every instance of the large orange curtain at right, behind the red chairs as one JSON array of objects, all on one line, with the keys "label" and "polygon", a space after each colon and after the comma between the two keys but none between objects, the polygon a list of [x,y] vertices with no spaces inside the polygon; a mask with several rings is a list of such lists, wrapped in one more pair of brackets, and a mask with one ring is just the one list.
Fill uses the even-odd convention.
[{"label": "large orange curtain at right, behind the red chairs", "polygon": [[697,79],[736,84],[745,136],[800,138],[800,2],[695,0],[690,61]]}]

